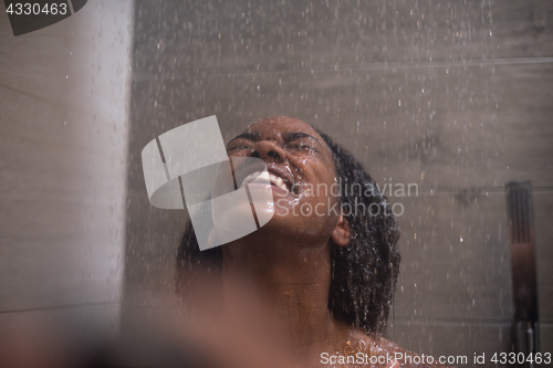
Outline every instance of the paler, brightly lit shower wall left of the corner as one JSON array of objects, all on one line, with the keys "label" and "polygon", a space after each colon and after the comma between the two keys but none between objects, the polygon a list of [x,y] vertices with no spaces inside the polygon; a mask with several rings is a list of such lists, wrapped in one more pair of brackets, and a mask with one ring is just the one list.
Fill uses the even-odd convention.
[{"label": "paler, brightly lit shower wall left of the corner", "polygon": [[14,38],[0,4],[0,366],[118,332],[132,17],[88,1]]}]

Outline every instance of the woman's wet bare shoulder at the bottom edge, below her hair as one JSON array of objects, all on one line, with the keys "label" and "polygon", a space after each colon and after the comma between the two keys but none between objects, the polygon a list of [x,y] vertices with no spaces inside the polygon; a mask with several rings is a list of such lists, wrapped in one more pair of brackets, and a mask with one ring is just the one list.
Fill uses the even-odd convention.
[{"label": "woman's wet bare shoulder at the bottom edge, below her hair", "polygon": [[398,367],[405,368],[449,368],[449,366],[440,364],[439,359],[436,357],[409,351],[379,335],[366,335],[362,332],[358,332],[355,335],[355,340],[359,341],[361,346],[364,346],[364,350],[373,357],[375,362],[378,359],[383,361],[394,359],[399,362]]}]

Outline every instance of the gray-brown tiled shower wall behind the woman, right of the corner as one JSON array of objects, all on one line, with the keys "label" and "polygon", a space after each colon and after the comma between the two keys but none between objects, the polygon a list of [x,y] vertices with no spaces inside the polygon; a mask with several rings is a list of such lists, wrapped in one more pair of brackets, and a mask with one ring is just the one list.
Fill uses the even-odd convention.
[{"label": "gray-brown tiled shower wall behind the woman, right of the corner", "polygon": [[388,336],[426,354],[508,351],[504,182],[533,181],[543,350],[553,350],[553,2],[137,1],[125,311],[173,288],[184,211],[149,206],[142,148],[217,115],[330,133],[405,213]]}]

